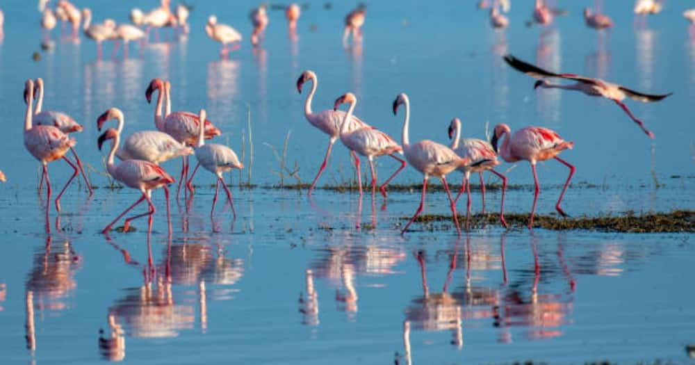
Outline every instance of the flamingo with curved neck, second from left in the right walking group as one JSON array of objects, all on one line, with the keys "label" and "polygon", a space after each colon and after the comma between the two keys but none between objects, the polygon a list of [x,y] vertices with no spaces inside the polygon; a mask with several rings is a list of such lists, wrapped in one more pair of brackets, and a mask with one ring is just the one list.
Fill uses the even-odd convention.
[{"label": "flamingo with curved neck, second from left in the right walking group", "polygon": [[[382,195],[386,197],[386,185],[389,184],[389,181],[391,181],[395,175],[398,175],[398,172],[405,168],[405,161],[394,155],[395,153],[402,154],[403,148],[400,147],[400,145],[398,145],[393,138],[375,128],[365,126],[351,130],[350,120],[352,120],[352,111],[354,110],[355,104],[357,104],[357,99],[354,97],[354,94],[352,94],[352,92],[348,92],[347,94],[338,97],[334,104],[333,110],[337,111],[338,106],[345,103],[349,103],[350,108],[347,109],[347,113],[345,113],[343,122],[341,123],[341,141],[343,142],[343,145],[347,147],[347,149],[350,149],[352,152],[357,152],[362,156],[366,156],[369,160],[369,168],[372,172],[372,193],[374,193],[377,186],[377,178],[374,173],[374,157],[389,155],[396,161],[400,162],[400,168],[395,170],[393,175],[391,175],[389,179],[386,179],[382,186],[379,186],[379,190],[382,192]],[[354,163],[355,169],[357,170],[359,195],[362,196],[362,178],[359,171],[359,159],[357,158],[357,155],[354,155]]]}]

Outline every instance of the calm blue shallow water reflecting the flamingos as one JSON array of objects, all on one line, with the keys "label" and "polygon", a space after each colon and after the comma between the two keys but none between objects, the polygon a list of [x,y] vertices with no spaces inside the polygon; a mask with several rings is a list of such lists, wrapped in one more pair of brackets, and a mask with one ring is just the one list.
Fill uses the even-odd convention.
[{"label": "calm blue shallow water reflecting the flamingos", "polygon": [[[254,3],[220,3],[195,4],[186,40],[153,42],[142,50],[131,44],[127,60],[109,58],[110,44],[104,60],[96,60],[95,45],[83,39],[58,40],[36,63],[30,59],[40,40],[38,13],[33,5],[3,5],[0,108],[15,127],[8,131],[12,140],[3,145],[7,157],[0,166],[8,175],[0,186],[1,362],[688,361],[684,346],[695,341],[695,294],[689,290],[695,250],[689,234],[529,234],[493,225],[457,239],[452,229],[430,232],[414,225],[402,238],[398,227],[416,209],[417,188],[392,192],[386,204],[367,194],[361,211],[354,193],[316,190],[306,200],[306,191],[267,188],[279,183],[279,163],[268,145],[281,151],[288,131],[288,170],[299,168],[302,182],[313,179],[325,152],[327,139],[304,120],[305,95],[295,88],[297,76],[309,68],[320,80],[314,110],[353,91],[357,115],[396,139],[402,115],[393,116],[391,102],[398,92],[411,99],[413,139],[444,143],[454,116],[463,120],[464,135],[479,137],[486,122],[489,129],[498,122],[512,129],[555,129],[575,142],[562,153],[577,166],[576,184],[563,203],[573,216],[693,209],[688,101],[695,96],[695,41],[680,17],[685,3],[668,2],[646,29],[635,31],[629,6],[606,2],[616,28],[600,38],[580,19],[584,4],[560,3],[569,15],[539,29],[523,24],[528,4],[514,3],[512,25],[496,32],[472,3],[377,2],[368,4],[363,42],[343,49],[339,24],[352,4],[325,10],[311,2],[300,19],[298,42],[288,42],[281,13],[271,11],[264,47],[251,49],[245,42],[230,60],[220,60],[218,44],[202,33],[204,19],[216,13],[220,22],[249,34],[247,10]],[[117,21],[126,19],[129,3],[106,4],[92,8],[97,19],[107,9]],[[25,13],[36,22],[26,22]],[[309,30],[311,24],[317,31]],[[507,52],[644,92],[673,91],[660,103],[628,101],[657,138],[651,143],[610,102],[534,92],[532,79],[503,63],[500,55]],[[19,142],[20,92],[25,79],[38,76],[47,88],[44,108],[83,123],[77,150],[99,172],[97,116],[117,106],[126,115],[126,134],[154,129],[154,107],[144,97],[153,77],[172,81],[174,110],[206,108],[224,132],[221,143],[238,154],[243,138],[247,166],[250,111],[251,182],[259,186],[238,188],[234,172],[238,218],[232,223],[229,206],[218,204],[211,221],[213,177],[201,173],[190,206],[172,202],[171,236],[157,192],[152,235],[140,220],[134,233],[105,237],[99,229],[138,194],[110,190],[106,177],[90,172],[100,187],[94,197],[70,188],[60,229],[44,234],[44,205],[35,190],[38,166]],[[352,179],[347,153],[338,145],[320,186]],[[54,188],[69,176],[64,165],[49,166]],[[164,167],[178,178],[178,161]],[[395,167],[379,163],[382,176]],[[567,172],[555,162],[539,165],[539,213],[553,211]],[[297,182],[287,175],[286,184]],[[526,163],[508,176],[510,184],[532,184]],[[459,183],[460,175],[449,181]],[[420,176],[407,168],[394,182],[418,184]],[[500,191],[490,190],[486,210],[496,211],[499,199]],[[528,212],[531,201],[530,188],[510,190],[507,211]],[[459,203],[459,210],[464,206]],[[480,209],[474,192],[473,211]],[[443,193],[428,195],[425,210],[447,213]],[[354,229],[358,221],[360,230]],[[53,210],[50,224],[56,225]]]}]

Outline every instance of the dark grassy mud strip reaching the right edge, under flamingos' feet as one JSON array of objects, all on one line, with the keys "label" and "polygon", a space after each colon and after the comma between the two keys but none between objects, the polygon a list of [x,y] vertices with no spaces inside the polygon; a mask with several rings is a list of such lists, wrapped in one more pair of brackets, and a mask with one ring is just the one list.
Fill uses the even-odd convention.
[{"label": "dark grassy mud strip reaching the right edge, under flamingos' feet", "polygon": [[[409,220],[410,217],[401,217]],[[512,228],[526,227],[528,214],[507,213],[505,220]],[[450,229],[450,215],[423,214],[416,222],[425,225],[427,230]],[[463,226],[466,216],[459,215],[459,223]],[[441,225],[439,223],[443,223]],[[623,233],[667,233],[695,232],[695,211],[671,211],[667,213],[645,213],[640,216],[632,212],[621,216],[559,218],[557,216],[537,215],[533,218],[534,228],[553,230],[585,229],[598,232]],[[439,224],[439,225],[438,225]],[[495,213],[475,214],[471,216],[470,227],[480,228],[486,225],[498,225],[499,215]]]}]

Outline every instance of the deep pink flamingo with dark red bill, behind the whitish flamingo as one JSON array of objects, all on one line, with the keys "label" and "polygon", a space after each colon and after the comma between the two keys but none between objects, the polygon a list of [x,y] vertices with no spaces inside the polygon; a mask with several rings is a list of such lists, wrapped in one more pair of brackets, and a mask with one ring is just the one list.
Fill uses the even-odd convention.
[{"label": "deep pink flamingo with dark red bill, behind the whitish flamingo", "polygon": [[[152,82],[149,83],[145,91],[145,97],[148,103],[152,102],[152,92],[154,92],[154,90],[158,90],[157,104],[154,109],[154,124],[157,129],[172,136],[179,143],[189,146],[196,145],[199,123],[198,115],[186,111],[175,111],[163,117],[162,101],[166,94],[166,90],[161,79],[153,79]],[[167,99],[167,104],[170,105],[171,101],[168,95]],[[220,129],[215,127],[209,120],[204,121],[204,128],[205,138],[213,138],[213,136],[220,136],[220,134],[222,134]],[[188,157],[181,156],[181,158],[181,180],[179,180],[179,186],[177,188],[177,199],[179,199],[181,185],[188,181]]]}]

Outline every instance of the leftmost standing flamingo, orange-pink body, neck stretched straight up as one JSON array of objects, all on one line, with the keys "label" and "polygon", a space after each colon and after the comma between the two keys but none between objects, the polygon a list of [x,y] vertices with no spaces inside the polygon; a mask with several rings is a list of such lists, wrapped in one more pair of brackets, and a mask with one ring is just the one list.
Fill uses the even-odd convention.
[{"label": "leftmost standing flamingo, orange-pink body, neck stretched straight up", "polygon": [[24,115],[24,147],[26,147],[26,150],[43,165],[42,179],[46,179],[47,190],[46,229],[50,232],[48,213],[49,206],[51,205],[51,181],[49,181],[47,165],[51,161],[63,159],[74,170],[70,179],[67,180],[67,184],[65,184],[63,190],[60,190],[58,197],[56,197],[56,211],[60,212],[60,197],[63,196],[67,186],[70,186],[72,180],[77,176],[77,166],[65,157],[67,150],[70,149],[70,147],[74,147],[76,142],[74,138],[68,137],[54,126],[32,125],[33,113],[31,109],[33,104],[33,93],[34,82],[29,79],[24,84],[24,102],[26,102],[26,114]]}]

